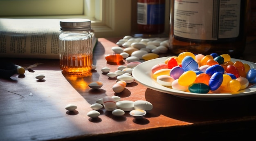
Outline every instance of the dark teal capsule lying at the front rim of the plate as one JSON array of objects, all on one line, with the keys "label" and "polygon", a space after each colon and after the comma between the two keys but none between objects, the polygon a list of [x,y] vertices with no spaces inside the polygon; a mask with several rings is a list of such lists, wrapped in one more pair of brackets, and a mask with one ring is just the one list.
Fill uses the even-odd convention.
[{"label": "dark teal capsule lying at the front rim of the plate", "polygon": [[189,91],[191,93],[208,93],[210,88],[204,83],[193,83],[189,85]]}]

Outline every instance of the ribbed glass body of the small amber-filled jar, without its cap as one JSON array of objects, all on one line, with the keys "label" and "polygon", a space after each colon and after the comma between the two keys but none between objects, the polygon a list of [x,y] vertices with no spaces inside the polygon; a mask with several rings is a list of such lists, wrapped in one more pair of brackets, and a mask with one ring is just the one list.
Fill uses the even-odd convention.
[{"label": "ribbed glass body of the small amber-filled jar, without its cap", "polygon": [[[77,36],[77,35],[76,35]],[[83,75],[92,69],[92,40],[60,40],[60,68],[64,73]],[[76,37],[77,38],[77,37]]]}]

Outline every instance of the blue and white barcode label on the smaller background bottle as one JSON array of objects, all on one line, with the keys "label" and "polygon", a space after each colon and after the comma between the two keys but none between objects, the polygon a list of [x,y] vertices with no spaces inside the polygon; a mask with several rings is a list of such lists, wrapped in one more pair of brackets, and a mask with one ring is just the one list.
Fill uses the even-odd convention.
[{"label": "blue and white barcode label on the smaller background bottle", "polygon": [[138,24],[164,24],[165,4],[137,3]]}]

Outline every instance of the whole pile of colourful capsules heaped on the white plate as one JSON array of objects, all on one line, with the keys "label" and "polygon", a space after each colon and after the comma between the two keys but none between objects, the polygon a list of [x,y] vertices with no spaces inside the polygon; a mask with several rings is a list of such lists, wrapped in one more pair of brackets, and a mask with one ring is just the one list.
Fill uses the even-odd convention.
[{"label": "whole pile of colourful capsules heaped on the white plate", "polygon": [[236,93],[256,83],[256,69],[228,54],[183,52],[151,68],[162,86],[191,93]]}]

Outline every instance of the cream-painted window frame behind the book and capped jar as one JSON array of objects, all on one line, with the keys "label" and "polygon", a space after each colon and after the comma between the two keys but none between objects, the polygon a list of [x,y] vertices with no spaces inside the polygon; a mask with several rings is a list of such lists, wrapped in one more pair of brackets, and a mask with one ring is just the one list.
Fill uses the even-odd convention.
[{"label": "cream-painted window frame behind the book and capped jar", "polygon": [[[92,29],[96,37],[122,37],[130,35],[131,26],[131,0],[92,0],[101,2],[100,7],[90,5],[90,10],[94,11],[95,18],[91,20]],[[86,0],[85,0],[86,2]],[[91,3],[93,4],[93,3]],[[123,6],[125,5],[125,6]],[[100,9],[100,10],[98,10]],[[120,12],[121,11],[121,12]],[[52,15],[52,16],[9,16],[0,18],[86,18],[86,10],[83,15]],[[102,13],[102,14],[101,14]]]}]

